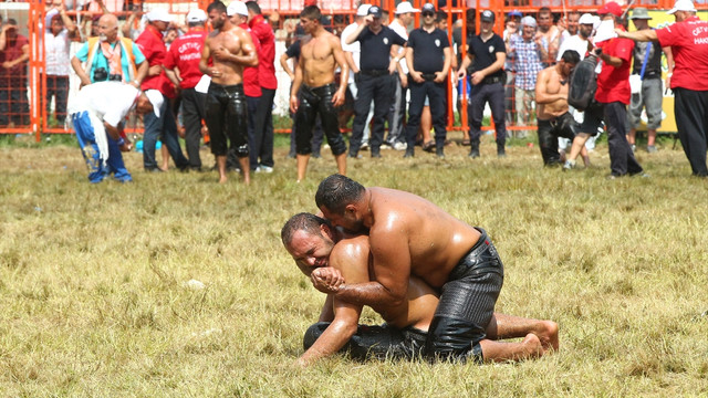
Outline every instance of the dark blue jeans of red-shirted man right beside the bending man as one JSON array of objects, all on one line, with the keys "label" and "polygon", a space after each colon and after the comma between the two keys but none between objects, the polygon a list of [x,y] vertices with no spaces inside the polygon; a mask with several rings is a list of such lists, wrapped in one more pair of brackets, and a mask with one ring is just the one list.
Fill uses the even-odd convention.
[{"label": "dark blue jeans of red-shirted man right beside the bending man", "polygon": [[167,146],[169,156],[171,156],[177,168],[185,169],[189,167],[189,160],[181,153],[179,146],[179,138],[177,136],[177,124],[175,123],[175,115],[169,106],[169,98],[165,97],[165,102],[159,109],[159,117],[155,116],[155,113],[148,112],[143,117],[145,124],[145,133],[143,135],[143,166],[146,170],[153,170],[157,168],[157,160],[155,159],[155,145],[157,138],[163,136],[163,145]]}]

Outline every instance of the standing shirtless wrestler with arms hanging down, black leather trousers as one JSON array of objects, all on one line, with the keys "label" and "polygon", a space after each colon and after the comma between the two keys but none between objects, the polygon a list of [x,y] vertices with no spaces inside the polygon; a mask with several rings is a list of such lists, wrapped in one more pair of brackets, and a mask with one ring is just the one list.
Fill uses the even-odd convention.
[{"label": "standing shirtless wrestler with arms hanging down, black leather trousers", "polygon": [[[290,111],[295,114],[298,130],[298,182],[305,178],[312,154],[312,128],[317,114],[336,159],[337,170],[341,175],[346,174],[346,144],[340,132],[335,107],[344,104],[348,66],[340,39],[324,30],[320,24],[321,18],[316,6],[308,6],[300,13],[300,23],[309,36],[301,41],[300,60],[290,92]],[[334,70],[337,64],[342,69],[342,75],[340,87],[335,91]]]}]

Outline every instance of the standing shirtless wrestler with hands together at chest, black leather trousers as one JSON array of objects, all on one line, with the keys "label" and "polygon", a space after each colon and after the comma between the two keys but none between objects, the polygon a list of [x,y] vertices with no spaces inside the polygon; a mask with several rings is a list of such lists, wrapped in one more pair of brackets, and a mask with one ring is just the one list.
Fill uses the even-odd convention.
[{"label": "standing shirtless wrestler with hands together at chest, black leather trousers", "polygon": [[[226,6],[215,1],[207,8],[215,29],[205,41],[199,70],[211,76],[205,106],[211,138],[211,153],[217,158],[219,182],[227,181],[228,145],[236,148],[243,182],[250,184],[247,130],[247,104],[243,94],[243,67],[258,65],[253,41],[247,31],[231,23]],[[209,60],[212,64],[209,65]]]}]

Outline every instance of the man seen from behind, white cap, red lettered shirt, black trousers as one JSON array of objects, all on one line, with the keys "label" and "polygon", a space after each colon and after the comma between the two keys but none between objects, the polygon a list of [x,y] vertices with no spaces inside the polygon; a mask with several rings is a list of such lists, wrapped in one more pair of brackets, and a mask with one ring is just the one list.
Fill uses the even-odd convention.
[{"label": "man seen from behind, white cap, red lettered shirt, black trousers", "polygon": [[185,146],[189,158],[189,168],[201,170],[199,144],[201,142],[201,121],[205,118],[204,104],[206,93],[195,90],[204,74],[199,71],[201,49],[207,38],[205,23],[207,13],[196,9],[187,13],[187,33],[175,39],[165,56],[165,72],[169,81],[181,93],[181,117],[185,124]]}]

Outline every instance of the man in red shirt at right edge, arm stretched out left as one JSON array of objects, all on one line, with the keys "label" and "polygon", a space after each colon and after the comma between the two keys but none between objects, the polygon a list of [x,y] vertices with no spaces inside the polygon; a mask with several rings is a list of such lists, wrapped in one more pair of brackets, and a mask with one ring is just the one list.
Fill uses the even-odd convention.
[{"label": "man in red shirt at right edge, arm stretched out left", "polygon": [[674,14],[676,23],[657,30],[617,31],[617,35],[658,41],[660,46],[671,48],[674,65],[669,65],[668,75],[676,96],[674,114],[678,137],[694,176],[708,177],[708,22],[696,17],[690,0],[677,0],[667,13]]}]

